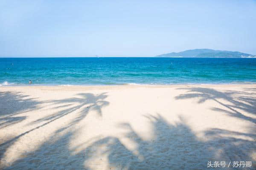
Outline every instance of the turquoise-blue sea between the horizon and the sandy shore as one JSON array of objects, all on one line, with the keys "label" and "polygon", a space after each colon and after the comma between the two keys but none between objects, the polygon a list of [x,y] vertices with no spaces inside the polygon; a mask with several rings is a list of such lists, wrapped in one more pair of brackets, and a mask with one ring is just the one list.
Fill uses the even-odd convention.
[{"label": "turquoise-blue sea between the horizon and the sandy shore", "polygon": [[0,85],[256,83],[256,58],[0,58]]}]

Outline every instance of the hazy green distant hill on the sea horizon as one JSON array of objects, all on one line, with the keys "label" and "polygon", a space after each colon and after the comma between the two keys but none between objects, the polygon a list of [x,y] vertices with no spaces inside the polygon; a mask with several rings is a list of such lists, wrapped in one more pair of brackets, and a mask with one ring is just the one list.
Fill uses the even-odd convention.
[{"label": "hazy green distant hill on the sea horizon", "polygon": [[156,57],[225,57],[225,58],[246,58],[256,57],[256,55],[241,53],[238,51],[220,51],[212,49],[194,49],[182,52],[172,52],[168,54],[161,54]]}]

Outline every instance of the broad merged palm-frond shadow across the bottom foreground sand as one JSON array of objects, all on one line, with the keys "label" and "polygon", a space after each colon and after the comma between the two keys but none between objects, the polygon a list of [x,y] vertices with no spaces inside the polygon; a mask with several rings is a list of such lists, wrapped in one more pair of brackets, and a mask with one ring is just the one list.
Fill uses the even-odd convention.
[{"label": "broad merged palm-frond shadow across the bottom foreground sand", "polygon": [[[253,149],[254,141],[231,136],[223,137],[227,134],[237,136],[252,134],[212,129],[205,132],[210,140],[201,141],[182,117],[180,122],[174,125],[169,124],[160,114],[145,117],[151,124],[151,139],[143,139],[128,123],[118,126],[126,131],[124,139],[135,144],[136,147],[133,149],[117,137],[106,136],[84,142],[81,145],[87,147],[75,152],[81,145],[70,147],[70,140],[75,132],[67,130],[64,134],[56,132],[54,136],[58,137],[55,141],[45,142],[25,158],[15,161],[12,166],[4,169],[205,170],[208,161],[254,160],[252,157],[252,153],[256,151]],[[234,156],[234,153],[239,157]],[[107,167],[102,163],[102,158],[105,156]]]}]

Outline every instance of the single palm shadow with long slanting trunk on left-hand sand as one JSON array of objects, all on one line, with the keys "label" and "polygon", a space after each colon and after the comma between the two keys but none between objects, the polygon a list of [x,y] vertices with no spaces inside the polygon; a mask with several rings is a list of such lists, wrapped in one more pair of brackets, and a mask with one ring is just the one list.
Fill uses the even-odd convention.
[{"label": "single palm shadow with long slanting trunk on left-hand sand", "polygon": [[[3,154],[5,153],[5,151],[10,146],[12,146],[12,144],[15,141],[17,141],[17,139],[19,139],[20,137],[36,129],[49,125],[51,122],[54,122],[55,120],[60,119],[70,113],[76,113],[76,111],[79,110],[79,112],[77,112],[77,114],[74,116],[72,122],[70,122],[66,127],[63,127],[57,130],[58,133],[69,127],[72,127],[73,125],[76,125],[78,122],[80,122],[82,119],[86,117],[90,109],[95,110],[99,116],[102,116],[102,107],[109,105],[109,102],[104,100],[107,97],[107,95],[105,94],[106,93],[94,95],[89,93],[82,93],[82,94],[78,94],[80,98],[75,97],[75,98],[69,98],[69,99],[52,100],[52,101],[44,102],[44,103],[51,103],[52,105],[55,105],[55,104],[65,105],[65,106],[68,106],[68,108],[64,108],[57,113],[53,113],[51,115],[48,115],[41,119],[33,121],[30,123],[31,125],[32,124],[41,124],[41,125],[38,125],[30,130],[27,130],[18,136],[12,137],[11,139],[4,140],[4,142],[0,144],[0,150],[1,150],[0,159],[3,157]],[[73,103],[76,103],[76,105],[73,105]],[[88,106],[86,107],[86,105]]]}]

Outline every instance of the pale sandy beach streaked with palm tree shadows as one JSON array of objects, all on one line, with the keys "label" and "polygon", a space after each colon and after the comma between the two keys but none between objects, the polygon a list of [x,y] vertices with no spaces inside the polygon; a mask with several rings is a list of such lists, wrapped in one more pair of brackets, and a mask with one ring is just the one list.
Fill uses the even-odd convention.
[{"label": "pale sandy beach streaked with palm tree shadows", "polygon": [[256,85],[0,87],[0,169],[239,169],[233,161],[256,169]]}]

